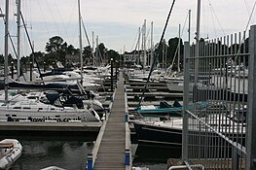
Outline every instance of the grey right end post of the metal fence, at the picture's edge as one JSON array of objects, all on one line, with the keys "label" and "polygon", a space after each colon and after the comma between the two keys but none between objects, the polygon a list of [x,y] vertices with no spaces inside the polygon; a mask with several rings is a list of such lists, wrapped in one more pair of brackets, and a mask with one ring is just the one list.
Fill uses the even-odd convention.
[{"label": "grey right end post of the metal fence, at the picture's edge", "polygon": [[256,25],[250,27],[249,54],[246,169],[256,169]]}]

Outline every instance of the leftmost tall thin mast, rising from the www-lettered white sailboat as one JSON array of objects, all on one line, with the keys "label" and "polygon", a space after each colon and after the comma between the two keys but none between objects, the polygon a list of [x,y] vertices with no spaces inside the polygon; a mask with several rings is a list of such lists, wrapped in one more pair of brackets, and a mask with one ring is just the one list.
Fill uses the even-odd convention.
[{"label": "leftmost tall thin mast, rising from the www-lettered white sailboat", "polygon": [[9,36],[9,0],[5,8],[5,103],[8,103],[8,36]]}]

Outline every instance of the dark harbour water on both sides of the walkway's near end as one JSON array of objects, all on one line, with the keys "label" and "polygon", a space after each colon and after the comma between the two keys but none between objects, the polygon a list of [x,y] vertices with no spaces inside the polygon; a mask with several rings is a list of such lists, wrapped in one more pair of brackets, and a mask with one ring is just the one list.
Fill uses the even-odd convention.
[{"label": "dark harbour water on both sides of the walkway's near end", "polygon": [[[80,137],[60,136],[50,134],[47,136],[4,135],[0,139],[15,138],[21,143],[23,151],[11,170],[40,170],[49,166],[57,166],[66,170],[86,170],[87,155],[91,153],[94,135]],[[138,147],[133,165],[148,167],[150,170],[165,170],[168,152],[154,152],[152,148]]]}]

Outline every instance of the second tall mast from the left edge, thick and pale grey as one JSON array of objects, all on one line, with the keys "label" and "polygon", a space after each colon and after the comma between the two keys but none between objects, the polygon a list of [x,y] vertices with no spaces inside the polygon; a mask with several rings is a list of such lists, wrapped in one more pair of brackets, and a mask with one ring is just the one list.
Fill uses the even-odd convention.
[{"label": "second tall mast from the left edge, thick and pale grey", "polygon": [[17,73],[18,78],[20,76],[20,3],[21,0],[17,0]]}]

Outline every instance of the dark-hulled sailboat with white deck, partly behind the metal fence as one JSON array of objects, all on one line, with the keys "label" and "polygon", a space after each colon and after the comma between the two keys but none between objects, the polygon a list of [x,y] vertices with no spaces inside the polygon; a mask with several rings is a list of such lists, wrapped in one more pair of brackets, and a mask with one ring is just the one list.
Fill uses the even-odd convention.
[{"label": "dark-hulled sailboat with white deck, partly behind the metal fence", "polygon": [[[220,107],[217,109],[217,107]],[[242,145],[245,146],[245,123],[246,123],[246,106],[242,108],[235,108],[227,114],[220,116],[219,110],[222,105],[213,105],[206,107],[205,112],[209,113],[212,110],[212,114],[202,118],[202,122],[210,123],[211,130],[208,130],[206,126],[198,119],[190,118],[189,122],[192,124],[201,124],[198,128],[191,127],[189,129],[191,133],[201,133],[208,138],[208,141],[215,141],[217,144],[217,136],[214,135],[214,131],[218,133],[226,134],[230,139],[238,139],[238,136],[242,136],[244,141]],[[216,109],[215,111],[213,111]],[[214,120],[213,120],[214,119]],[[167,148],[180,148],[182,146],[182,128],[183,118],[170,117],[168,119],[134,119],[129,121],[131,131],[132,143],[138,143],[142,145],[154,145],[157,147]],[[234,127],[227,131],[226,127]],[[221,143],[221,141],[219,141]]]}]

